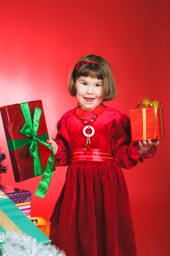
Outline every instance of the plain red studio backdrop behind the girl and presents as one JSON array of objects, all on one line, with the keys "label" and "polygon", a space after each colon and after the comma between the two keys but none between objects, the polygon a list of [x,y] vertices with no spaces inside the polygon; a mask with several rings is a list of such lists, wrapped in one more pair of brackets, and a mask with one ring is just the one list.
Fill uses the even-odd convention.
[{"label": "plain red studio backdrop behind the girl and presents", "polygon": [[[0,3],[0,106],[41,99],[48,132],[77,105],[67,91],[71,67],[83,55],[108,60],[118,89],[107,105],[129,114],[147,96],[164,103],[166,139],[156,156],[125,170],[139,256],[168,256],[170,2],[30,0]],[[15,183],[0,119],[0,146],[8,173],[2,183],[32,191],[31,215],[49,220],[66,167],[55,171],[44,199],[34,196],[41,177]]]}]

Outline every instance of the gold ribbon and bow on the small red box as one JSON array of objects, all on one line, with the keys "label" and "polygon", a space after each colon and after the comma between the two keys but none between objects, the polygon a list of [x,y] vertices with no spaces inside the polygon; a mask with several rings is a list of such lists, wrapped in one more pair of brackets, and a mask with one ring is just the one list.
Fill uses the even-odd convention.
[{"label": "gold ribbon and bow on the small red box", "polygon": [[[144,104],[147,108],[153,108],[153,121],[154,121],[154,138],[156,137],[156,115],[158,111],[158,105],[162,103],[154,100],[150,102],[150,100],[144,97],[143,101],[140,101],[136,108],[139,108],[141,104]],[[143,138],[146,140],[146,108],[143,111]],[[145,113],[145,114],[144,114]]]}]

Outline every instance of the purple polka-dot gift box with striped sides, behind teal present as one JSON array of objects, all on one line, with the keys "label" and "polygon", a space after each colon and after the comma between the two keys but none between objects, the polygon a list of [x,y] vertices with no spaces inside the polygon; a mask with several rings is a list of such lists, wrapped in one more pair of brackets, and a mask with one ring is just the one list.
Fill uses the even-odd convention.
[{"label": "purple polka-dot gift box with striped sides, behind teal present", "polygon": [[0,189],[28,217],[31,217],[31,191],[0,184]]}]

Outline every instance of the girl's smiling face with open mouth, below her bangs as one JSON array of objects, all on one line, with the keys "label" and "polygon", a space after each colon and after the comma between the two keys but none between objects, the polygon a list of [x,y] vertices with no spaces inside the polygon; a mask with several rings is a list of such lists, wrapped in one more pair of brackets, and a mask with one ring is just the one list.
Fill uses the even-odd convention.
[{"label": "girl's smiling face with open mouth, below her bangs", "polygon": [[84,110],[96,108],[102,102],[102,80],[80,76],[76,81],[76,98]]}]

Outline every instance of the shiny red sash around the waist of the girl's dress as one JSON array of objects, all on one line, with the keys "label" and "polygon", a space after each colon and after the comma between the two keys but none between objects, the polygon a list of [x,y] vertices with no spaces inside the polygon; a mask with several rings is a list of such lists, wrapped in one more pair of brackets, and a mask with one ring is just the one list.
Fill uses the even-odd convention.
[{"label": "shiny red sash around the waist of the girl's dress", "polygon": [[75,148],[71,151],[70,161],[108,161],[113,160],[112,152],[106,149],[92,148],[92,152],[84,152],[83,148]]}]

